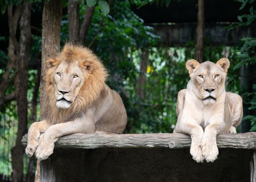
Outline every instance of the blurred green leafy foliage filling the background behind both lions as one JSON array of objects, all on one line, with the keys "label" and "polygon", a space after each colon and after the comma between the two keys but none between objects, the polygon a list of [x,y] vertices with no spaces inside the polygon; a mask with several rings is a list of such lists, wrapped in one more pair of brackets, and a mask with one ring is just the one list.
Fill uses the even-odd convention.
[{"label": "blurred green leafy foliage filling the background behind both lions", "polygon": [[[238,0],[241,8],[252,5],[251,1]],[[168,6],[171,1],[117,1],[111,5],[106,1],[87,0],[80,6],[80,17],[84,15],[87,5],[96,4],[89,34],[86,37],[86,46],[90,47],[100,57],[109,71],[108,85],[116,90],[124,101],[128,114],[128,124],[125,133],[171,133],[177,121],[176,101],[177,93],[186,87],[189,81],[185,61],[195,58],[195,42],[188,42],[183,47],[159,47],[158,37],[152,27],[144,25],[141,18],[131,10],[132,4],[143,6],[147,3],[158,3]],[[65,3],[64,3],[65,4]],[[3,4],[2,4],[3,5]],[[42,4],[33,6],[33,11],[42,12]],[[2,6],[2,12],[5,8]],[[5,12],[6,13],[6,12]],[[249,26],[255,22],[253,6],[246,15],[238,16],[238,23],[232,23],[227,29]],[[63,15],[61,30],[62,45],[68,41],[67,16]],[[30,62],[40,59],[41,36],[33,34]],[[6,44],[8,36],[0,36],[0,42]],[[211,46],[211,41],[205,42],[204,60],[217,61],[222,57],[231,60],[228,72],[227,91],[241,93],[239,69],[256,63],[256,38],[243,38],[240,45],[227,47],[225,45]],[[143,53],[148,52],[146,72],[141,72],[140,62]],[[7,50],[0,50],[0,63],[3,67],[8,60]],[[2,79],[4,68],[0,69]],[[143,99],[137,94],[137,80],[139,75],[146,76],[145,95]],[[35,85],[37,70],[29,71],[29,125],[33,122],[31,116],[31,100]],[[7,93],[14,90],[8,88]],[[6,94],[7,94],[6,93]],[[38,97],[39,100],[39,97]],[[252,92],[245,93],[243,100],[249,110],[256,108],[256,85]],[[40,107],[37,109],[39,120]],[[251,131],[256,131],[256,116],[246,115],[243,120],[251,122]],[[0,112],[0,174],[10,175],[10,149],[14,146],[17,133],[16,102],[7,103]],[[238,128],[239,131],[239,128]],[[28,159],[25,157],[27,171]]]}]

